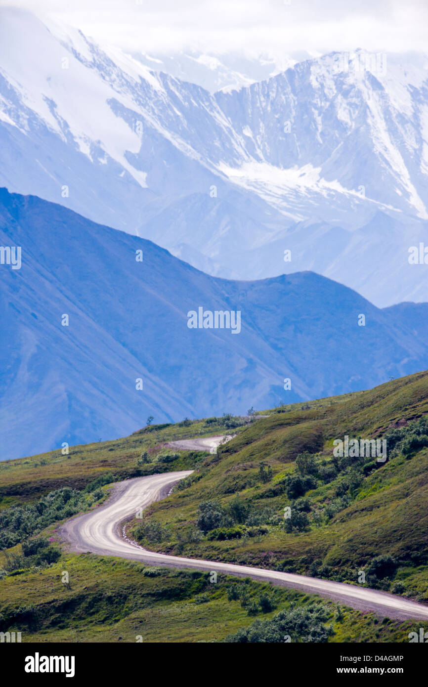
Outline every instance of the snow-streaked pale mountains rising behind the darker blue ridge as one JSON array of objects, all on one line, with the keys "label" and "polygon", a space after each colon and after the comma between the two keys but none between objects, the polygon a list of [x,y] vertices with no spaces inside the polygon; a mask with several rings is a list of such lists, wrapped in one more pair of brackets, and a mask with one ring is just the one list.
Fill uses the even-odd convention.
[{"label": "snow-streaked pale mountains rising behind the darker blue ridge", "polygon": [[426,56],[333,53],[216,93],[155,59],[2,9],[0,184],[213,275],[311,269],[380,306],[428,300],[409,264],[428,243]]}]

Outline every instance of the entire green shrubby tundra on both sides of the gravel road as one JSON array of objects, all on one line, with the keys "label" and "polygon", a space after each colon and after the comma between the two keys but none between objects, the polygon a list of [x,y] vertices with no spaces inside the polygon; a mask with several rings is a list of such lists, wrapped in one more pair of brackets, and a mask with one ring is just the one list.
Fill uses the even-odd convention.
[{"label": "entire green shrubby tundra on both sides of the gravel road", "polygon": [[[70,554],[57,528],[96,508],[111,482],[194,469],[144,519],[128,523],[132,537],[153,550],[427,601],[427,409],[428,372],[421,372],[271,409],[251,423],[226,416],[152,425],[68,455],[59,449],[0,462],[0,631],[23,631],[23,641],[218,642],[283,637],[289,628],[292,641],[407,642],[423,623],[382,621],[251,581],[218,576],[214,584],[202,573]],[[215,455],[166,446],[232,431],[236,438]],[[388,459],[335,457],[333,441],[346,435],[385,439]]]}]

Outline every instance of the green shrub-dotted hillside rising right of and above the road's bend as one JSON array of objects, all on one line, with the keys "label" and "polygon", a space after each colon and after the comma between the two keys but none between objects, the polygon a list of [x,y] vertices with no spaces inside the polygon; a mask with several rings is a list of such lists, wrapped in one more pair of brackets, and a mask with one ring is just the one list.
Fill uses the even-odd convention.
[{"label": "green shrub-dotted hillside rising right of and above the road's bend", "polygon": [[[338,581],[357,583],[363,571],[372,587],[428,600],[428,428],[418,424],[427,407],[423,372],[273,409],[202,460],[132,534],[155,550]],[[345,435],[386,437],[387,462],[335,460],[333,440]]]}]

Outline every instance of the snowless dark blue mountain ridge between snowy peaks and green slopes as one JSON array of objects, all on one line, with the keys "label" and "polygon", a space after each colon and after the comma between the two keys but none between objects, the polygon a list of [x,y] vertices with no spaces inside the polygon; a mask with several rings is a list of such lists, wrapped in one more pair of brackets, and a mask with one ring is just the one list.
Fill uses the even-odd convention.
[{"label": "snowless dark blue mountain ridge between snowy peaks and green slopes", "polygon": [[[149,414],[245,414],[428,367],[425,306],[380,310],[315,273],[214,278],[5,189],[0,246],[21,247],[20,269],[7,250],[0,264],[2,459],[124,436]],[[207,324],[209,313],[239,311],[240,332],[190,328],[199,308]]]}]

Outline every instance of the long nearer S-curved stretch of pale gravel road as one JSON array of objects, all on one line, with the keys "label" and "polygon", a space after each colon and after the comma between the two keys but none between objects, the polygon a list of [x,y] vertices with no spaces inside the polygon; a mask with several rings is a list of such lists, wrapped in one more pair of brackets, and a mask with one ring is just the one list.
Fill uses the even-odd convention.
[{"label": "long nearer S-curved stretch of pale gravel road", "polygon": [[361,611],[374,611],[381,617],[428,620],[428,606],[408,601],[401,596],[288,572],[153,553],[124,538],[124,521],[135,517],[137,511],[147,508],[157,499],[166,497],[173,484],[191,473],[192,470],[172,472],[119,482],[104,506],[67,520],[61,526],[60,533],[71,545],[71,550],[76,552],[120,556],[149,565],[215,570],[218,573],[249,576],[273,585],[294,587],[308,594],[326,596]]}]

